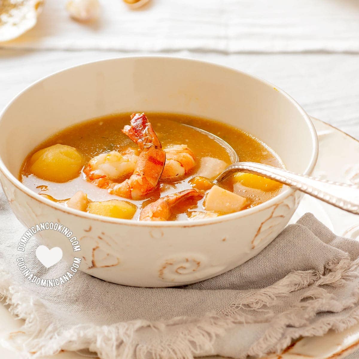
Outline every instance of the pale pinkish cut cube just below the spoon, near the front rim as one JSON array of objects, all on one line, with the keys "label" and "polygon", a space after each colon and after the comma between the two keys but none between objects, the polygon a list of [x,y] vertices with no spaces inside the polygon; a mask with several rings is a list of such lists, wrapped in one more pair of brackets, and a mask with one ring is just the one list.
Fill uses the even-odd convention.
[{"label": "pale pinkish cut cube just below the spoon, near the front rim", "polygon": [[219,213],[240,211],[248,204],[247,199],[224,188],[213,186],[205,200],[205,210]]}]

